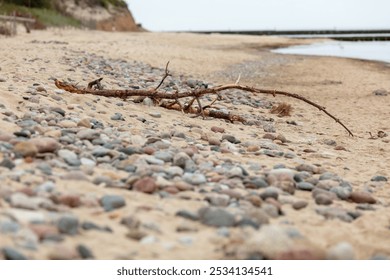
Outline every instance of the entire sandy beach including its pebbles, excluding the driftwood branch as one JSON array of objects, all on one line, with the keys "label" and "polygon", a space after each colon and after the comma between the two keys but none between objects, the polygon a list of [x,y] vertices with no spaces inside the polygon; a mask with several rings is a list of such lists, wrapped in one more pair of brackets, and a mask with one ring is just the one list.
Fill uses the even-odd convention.
[{"label": "entire sandy beach including its pebbles, excluding the driftwood branch", "polygon": [[[29,259],[389,259],[389,64],[270,52],[311,42],[61,29],[0,37],[0,248],[8,250],[0,259],[12,250]],[[299,94],[354,137],[287,97],[235,92],[216,103],[258,120],[245,125],[54,84],[85,87],[103,77],[107,89],[151,87],[167,61],[172,79],[187,85],[240,77],[242,85]],[[292,106],[290,116],[269,112],[281,102]],[[83,138],[83,130],[96,132]],[[18,156],[18,143],[34,138],[55,147],[26,145],[38,150]],[[100,156],[102,147],[110,151]],[[129,147],[140,152],[124,152]],[[192,167],[175,163],[182,153]],[[117,167],[125,162],[135,169]],[[166,169],[177,174],[161,175]],[[260,177],[266,186],[254,183]],[[148,180],[152,191],[143,187]],[[105,208],[105,196],[123,200]]]}]

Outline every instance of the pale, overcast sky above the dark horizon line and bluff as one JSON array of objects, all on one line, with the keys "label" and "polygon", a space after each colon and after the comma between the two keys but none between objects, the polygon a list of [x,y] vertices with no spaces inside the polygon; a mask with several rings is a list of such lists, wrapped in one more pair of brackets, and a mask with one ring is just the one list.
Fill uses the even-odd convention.
[{"label": "pale, overcast sky above the dark horizon line and bluff", "polygon": [[390,0],[126,0],[151,31],[390,29]]}]

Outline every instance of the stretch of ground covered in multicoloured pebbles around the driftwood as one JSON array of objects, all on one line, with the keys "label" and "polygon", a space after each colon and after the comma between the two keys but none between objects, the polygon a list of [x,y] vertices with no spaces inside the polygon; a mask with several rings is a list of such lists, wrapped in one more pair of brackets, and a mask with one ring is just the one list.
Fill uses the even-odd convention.
[{"label": "stretch of ground covered in multicoloured pebbles around the driftwood", "polygon": [[[105,88],[149,88],[164,75],[86,51],[67,51],[59,62],[85,77],[66,79],[80,86],[103,77]],[[389,211],[375,194],[388,177],[372,174],[362,188],[301,159],[265,98],[225,94],[216,109],[250,120],[231,124],[149,98],[75,96],[55,88],[55,71],[46,75],[23,81],[0,70],[0,92],[19,102],[14,110],[0,101],[0,259],[354,259],[348,236],[321,244],[296,217],[337,225]],[[161,89],[212,85],[173,74]],[[324,145],[345,150],[334,140]],[[389,259],[383,248],[365,257]]]}]

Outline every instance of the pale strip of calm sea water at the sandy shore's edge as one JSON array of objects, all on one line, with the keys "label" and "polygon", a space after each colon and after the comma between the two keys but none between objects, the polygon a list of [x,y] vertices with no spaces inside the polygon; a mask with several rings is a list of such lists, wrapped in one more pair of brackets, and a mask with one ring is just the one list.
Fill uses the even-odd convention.
[{"label": "pale strip of calm sea water at the sandy shore's edge", "polygon": [[273,50],[281,54],[338,56],[390,63],[390,41],[331,41]]}]

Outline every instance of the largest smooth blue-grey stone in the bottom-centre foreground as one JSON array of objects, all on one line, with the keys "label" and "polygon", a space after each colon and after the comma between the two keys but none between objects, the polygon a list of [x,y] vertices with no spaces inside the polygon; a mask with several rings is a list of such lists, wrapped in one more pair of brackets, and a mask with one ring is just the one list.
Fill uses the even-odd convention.
[{"label": "largest smooth blue-grey stone in the bottom-centre foreground", "polygon": [[234,215],[224,209],[205,207],[198,211],[200,221],[213,227],[232,227],[235,224]]}]

